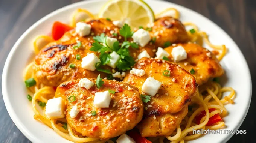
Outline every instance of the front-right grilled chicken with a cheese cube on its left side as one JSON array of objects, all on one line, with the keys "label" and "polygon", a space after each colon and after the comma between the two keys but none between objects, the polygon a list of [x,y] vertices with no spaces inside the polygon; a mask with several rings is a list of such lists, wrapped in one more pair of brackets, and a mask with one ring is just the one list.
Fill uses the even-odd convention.
[{"label": "front-right grilled chicken with a cheese cube on its left side", "polygon": [[[146,78],[162,82],[158,93],[151,96],[149,102],[143,103],[147,110],[144,110],[144,118],[138,125],[140,134],[142,137],[172,134],[186,116],[187,105],[197,92],[195,78],[177,64],[162,59],[142,58],[134,68],[145,70],[145,75],[138,77],[128,71],[123,81],[138,87],[140,93]],[[165,70],[170,71],[169,76],[163,75]]]}]

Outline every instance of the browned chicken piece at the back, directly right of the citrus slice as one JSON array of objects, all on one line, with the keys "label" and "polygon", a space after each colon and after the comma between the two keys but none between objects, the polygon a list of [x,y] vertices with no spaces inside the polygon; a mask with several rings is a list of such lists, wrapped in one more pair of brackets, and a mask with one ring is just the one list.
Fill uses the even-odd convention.
[{"label": "browned chicken piece at the back, directly right of the citrus slice", "polygon": [[151,37],[155,37],[155,46],[164,47],[166,42],[184,43],[189,41],[184,25],[172,17],[159,18],[154,22]]}]

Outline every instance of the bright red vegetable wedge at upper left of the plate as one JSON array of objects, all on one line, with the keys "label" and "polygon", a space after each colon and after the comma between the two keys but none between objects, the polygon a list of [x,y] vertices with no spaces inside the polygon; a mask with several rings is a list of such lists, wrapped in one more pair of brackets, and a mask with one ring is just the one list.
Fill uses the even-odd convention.
[{"label": "bright red vegetable wedge at upper left of the plate", "polygon": [[73,29],[73,27],[67,24],[61,23],[59,21],[55,21],[52,26],[52,38],[54,40],[58,40],[64,35],[65,32],[71,29]]}]

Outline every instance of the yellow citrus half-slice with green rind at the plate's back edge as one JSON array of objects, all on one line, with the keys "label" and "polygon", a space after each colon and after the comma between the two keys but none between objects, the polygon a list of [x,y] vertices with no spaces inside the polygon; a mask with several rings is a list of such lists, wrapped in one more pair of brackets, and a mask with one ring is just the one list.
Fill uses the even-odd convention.
[{"label": "yellow citrus half-slice with green rind at the plate's back edge", "polygon": [[143,0],[110,0],[99,12],[99,18],[127,23],[132,28],[154,22],[154,12]]}]

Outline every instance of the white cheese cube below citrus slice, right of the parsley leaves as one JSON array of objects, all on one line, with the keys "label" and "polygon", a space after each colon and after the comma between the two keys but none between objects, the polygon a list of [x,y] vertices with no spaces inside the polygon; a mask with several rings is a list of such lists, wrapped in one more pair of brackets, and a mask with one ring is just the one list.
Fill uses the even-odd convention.
[{"label": "white cheese cube below citrus slice, right of the parsley leaves", "polygon": [[138,42],[140,46],[144,47],[151,40],[148,31],[139,29],[133,33],[133,42]]}]

